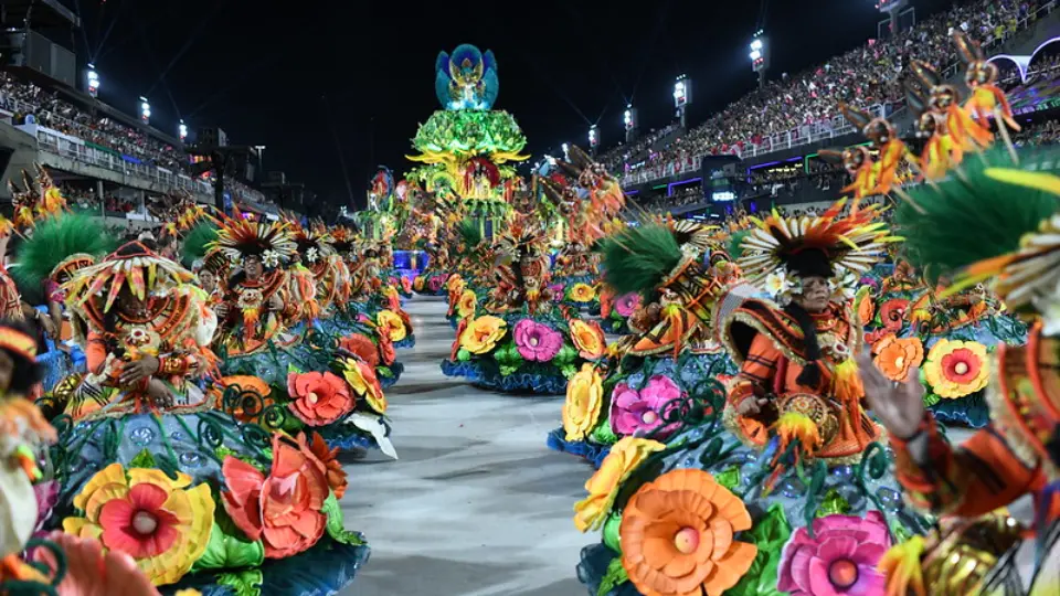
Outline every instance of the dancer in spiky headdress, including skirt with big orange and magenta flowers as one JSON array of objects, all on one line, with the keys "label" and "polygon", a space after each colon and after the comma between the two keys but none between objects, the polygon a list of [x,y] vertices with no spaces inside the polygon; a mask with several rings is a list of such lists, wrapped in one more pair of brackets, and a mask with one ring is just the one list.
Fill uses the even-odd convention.
[{"label": "dancer in spiky headdress, including skirt with big orange and magenta flowers", "polygon": [[841,206],[754,221],[738,264],[792,301],[723,294],[711,320],[736,377],[704,380],[698,403],[671,408],[680,432],[618,440],[586,482],[575,525],[602,528],[603,541],[583,551],[579,576],[596,594],[880,594],[892,533],[926,528],[888,475],[851,360],[861,333],[849,278],[893,238],[875,210]]}]

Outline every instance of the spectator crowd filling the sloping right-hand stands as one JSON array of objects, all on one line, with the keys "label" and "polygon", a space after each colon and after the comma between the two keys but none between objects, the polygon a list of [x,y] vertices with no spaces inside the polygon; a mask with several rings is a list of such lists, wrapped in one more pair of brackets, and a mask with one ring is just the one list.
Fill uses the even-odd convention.
[{"label": "spectator crowd filling the sloping right-hand stands", "polygon": [[910,60],[929,62],[940,70],[956,64],[954,31],[964,31],[989,47],[1051,9],[1056,0],[972,0],[916,23],[897,36],[869,42],[823,65],[795,76],[785,73],[734,102],[706,123],[690,129],[646,163],[629,163],[637,149],[617,147],[600,159],[623,174],[656,168],[659,174],[681,171],[697,156],[739,153],[749,145],[767,147],[771,135],[808,135],[814,126],[833,127],[838,103],[860,107],[897,105],[904,100],[901,79]]}]

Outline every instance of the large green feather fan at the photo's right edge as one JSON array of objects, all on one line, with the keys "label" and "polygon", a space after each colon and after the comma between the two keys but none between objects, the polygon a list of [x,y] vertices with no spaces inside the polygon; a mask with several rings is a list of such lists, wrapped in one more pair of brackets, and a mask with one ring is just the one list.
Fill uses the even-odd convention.
[{"label": "large green feather fan at the photo's right edge", "polygon": [[1020,238],[1060,203],[1051,192],[996,180],[987,170],[1054,173],[1060,171],[1058,160],[1057,149],[1021,152],[1019,166],[1004,149],[966,155],[945,180],[909,191],[911,202],[900,201],[894,215],[895,234],[905,238],[905,258],[934,280],[1016,251]]}]

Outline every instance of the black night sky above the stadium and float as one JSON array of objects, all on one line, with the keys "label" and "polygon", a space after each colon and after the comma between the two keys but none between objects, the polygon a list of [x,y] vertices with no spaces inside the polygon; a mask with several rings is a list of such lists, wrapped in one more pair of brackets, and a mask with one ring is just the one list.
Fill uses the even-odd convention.
[{"label": "black night sky above the stadium and float", "polygon": [[[500,95],[528,151],[585,145],[600,123],[623,137],[627,102],[642,127],[672,116],[672,85],[693,79],[695,125],[752,89],[748,43],[761,0],[63,0],[82,14],[80,62],[92,56],[100,98],[176,134],[220,125],[230,142],[264,145],[283,170],[325,200],[358,203],[377,164],[410,166],[416,125],[438,109],[434,62],[460,43],[492,50]],[[950,0],[914,0],[921,17]],[[772,0],[764,23],[772,77],[797,73],[876,36],[872,0]],[[88,50],[86,50],[86,47]],[[327,100],[325,100],[327,97]],[[346,161],[346,174],[340,162]]]}]

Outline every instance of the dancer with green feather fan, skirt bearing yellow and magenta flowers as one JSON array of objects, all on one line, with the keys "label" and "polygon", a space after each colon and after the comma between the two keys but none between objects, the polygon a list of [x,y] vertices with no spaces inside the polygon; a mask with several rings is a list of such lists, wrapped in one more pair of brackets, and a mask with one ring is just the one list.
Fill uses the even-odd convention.
[{"label": "dancer with green feather fan, skirt bearing yellow and magenta flowers", "polygon": [[645,306],[629,317],[634,333],[568,384],[551,448],[598,467],[623,437],[666,440],[689,422],[689,409],[714,407],[714,380],[736,366],[713,333],[713,309],[740,274],[713,233],[688,221],[643,222],[602,241],[607,287],[643,295]]}]

